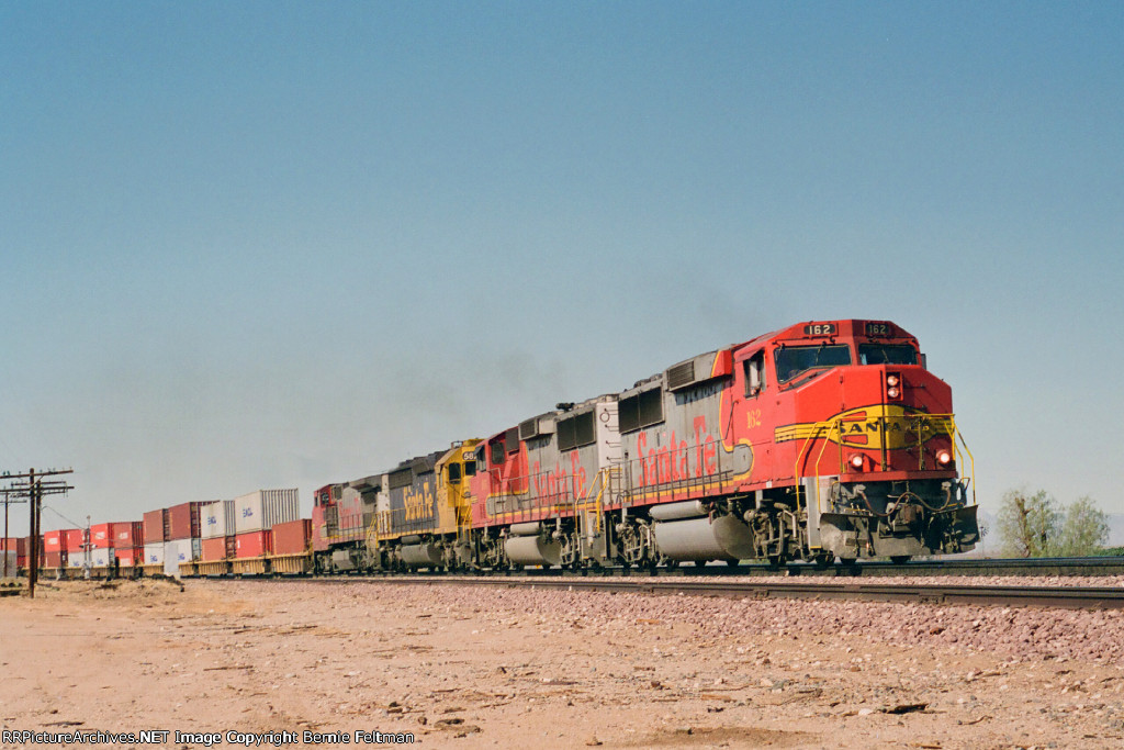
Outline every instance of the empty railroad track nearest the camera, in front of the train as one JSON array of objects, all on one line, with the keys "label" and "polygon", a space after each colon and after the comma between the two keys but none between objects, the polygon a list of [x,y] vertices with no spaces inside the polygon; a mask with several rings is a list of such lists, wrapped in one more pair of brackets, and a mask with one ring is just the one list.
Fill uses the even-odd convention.
[{"label": "empty railroad track nearest the camera, in front of the train", "polygon": [[491,586],[537,590],[595,590],[653,596],[708,596],[736,599],[849,599],[933,605],[1124,609],[1124,588],[1108,586],[954,586],[867,581],[688,581],[631,578],[395,576],[311,578],[325,584]]}]

